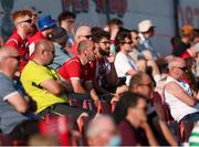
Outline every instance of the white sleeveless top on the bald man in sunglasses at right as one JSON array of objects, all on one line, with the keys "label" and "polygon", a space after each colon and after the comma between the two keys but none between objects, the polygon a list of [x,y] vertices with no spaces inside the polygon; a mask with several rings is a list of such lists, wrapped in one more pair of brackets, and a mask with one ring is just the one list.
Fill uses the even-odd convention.
[{"label": "white sleeveless top on the bald man in sunglasses at right", "polygon": [[[168,76],[166,84],[169,82],[176,82],[179,86],[184,88],[184,91],[191,96],[192,92],[189,87],[189,85],[185,82],[178,82],[174,80],[172,77]],[[193,107],[188,106],[186,103],[180,101],[178,97],[174,96],[172,94],[168,93],[165,88],[165,101],[169,106],[171,116],[175,120],[179,122],[182,117],[185,117],[188,114],[199,112],[199,104],[196,104]]]}]

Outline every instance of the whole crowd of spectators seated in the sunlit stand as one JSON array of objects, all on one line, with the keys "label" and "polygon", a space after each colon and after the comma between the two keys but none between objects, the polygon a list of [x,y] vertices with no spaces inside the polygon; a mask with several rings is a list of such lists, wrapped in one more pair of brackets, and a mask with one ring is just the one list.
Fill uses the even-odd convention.
[{"label": "whole crowd of spectators seated in the sunlit stand", "polygon": [[199,30],[182,25],[164,57],[151,20],[75,29],[75,18],[12,13],[0,49],[0,145],[199,146]]}]

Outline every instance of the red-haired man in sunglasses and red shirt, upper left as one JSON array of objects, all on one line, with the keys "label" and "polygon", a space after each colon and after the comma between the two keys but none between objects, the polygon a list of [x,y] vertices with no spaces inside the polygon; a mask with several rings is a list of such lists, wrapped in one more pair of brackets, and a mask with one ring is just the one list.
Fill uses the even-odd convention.
[{"label": "red-haired man in sunglasses and red shirt, upper left", "polygon": [[31,33],[32,29],[32,12],[29,10],[14,11],[12,14],[12,21],[15,25],[15,30],[12,35],[6,42],[6,46],[15,48],[20,55],[20,72],[23,70],[24,65],[29,60],[29,49],[27,46],[27,36]]}]

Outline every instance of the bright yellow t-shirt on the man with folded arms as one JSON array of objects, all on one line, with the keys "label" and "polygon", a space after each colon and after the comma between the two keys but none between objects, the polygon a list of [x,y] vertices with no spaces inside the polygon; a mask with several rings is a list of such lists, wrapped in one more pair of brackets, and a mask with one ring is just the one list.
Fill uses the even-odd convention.
[{"label": "bright yellow t-shirt on the man with folded arms", "polygon": [[67,102],[66,95],[55,96],[40,86],[41,82],[59,78],[54,70],[39,65],[33,61],[29,61],[23,69],[20,80],[25,92],[36,102],[36,113],[53,104]]}]

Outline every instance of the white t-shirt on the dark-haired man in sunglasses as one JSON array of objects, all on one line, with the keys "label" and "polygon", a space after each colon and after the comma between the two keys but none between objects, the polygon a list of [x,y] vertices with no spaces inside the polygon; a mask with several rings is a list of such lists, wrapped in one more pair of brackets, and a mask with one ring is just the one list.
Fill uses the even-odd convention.
[{"label": "white t-shirt on the dark-haired man in sunglasses", "polygon": [[127,72],[132,69],[138,71],[136,63],[132,60],[129,55],[118,52],[115,57],[115,70],[118,77],[126,77],[126,84],[129,85],[132,75],[127,75]]}]

